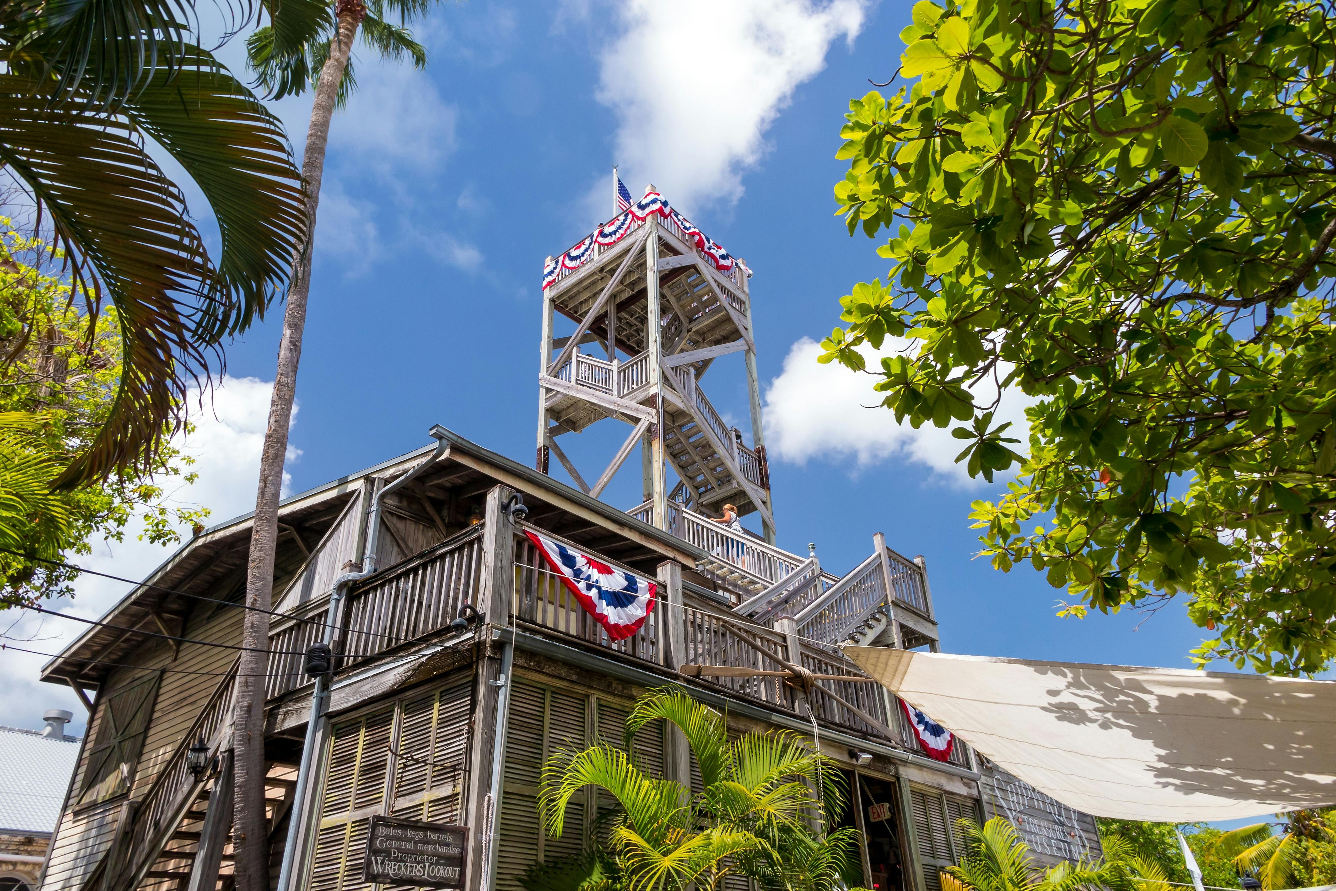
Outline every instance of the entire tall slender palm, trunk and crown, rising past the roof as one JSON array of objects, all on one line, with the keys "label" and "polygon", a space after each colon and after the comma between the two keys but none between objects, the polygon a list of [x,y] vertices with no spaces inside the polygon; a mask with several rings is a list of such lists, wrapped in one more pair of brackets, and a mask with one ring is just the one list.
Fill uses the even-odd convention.
[{"label": "entire tall slender palm, trunk and crown, rising past the roof", "polygon": [[[285,0],[286,1],[286,0]],[[291,285],[283,313],[283,334],[278,349],[278,370],[269,406],[269,425],[261,452],[259,486],[255,494],[255,518],[251,526],[250,558],[246,572],[246,602],[269,610],[274,593],[274,549],[278,540],[278,500],[283,481],[283,457],[293,419],[293,394],[297,390],[297,366],[302,354],[302,331],[306,326],[306,298],[311,286],[310,235],[315,231],[315,211],[325,174],[325,150],[329,144],[330,119],[354,88],[350,53],[358,31],[362,40],[379,55],[390,59],[409,56],[422,68],[426,51],[413,40],[405,27],[425,13],[434,0],[338,0],[329,25],[314,33],[289,33],[279,19],[258,29],[247,40],[250,64],[273,98],[301,94],[311,85],[315,102],[306,131],[302,156],[307,239],[291,255]],[[393,24],[386,13],[399,23]],[[262,652],[269,645],[269,613],[246,612],[242,652],[236,675],[236,711],[234,721],[235,807],[234,840],[236,843],[238,891],[263,891],[266,884],[267,844],[265,844],[265,667]],[[247,840],[254,839],[251,844]]]}]

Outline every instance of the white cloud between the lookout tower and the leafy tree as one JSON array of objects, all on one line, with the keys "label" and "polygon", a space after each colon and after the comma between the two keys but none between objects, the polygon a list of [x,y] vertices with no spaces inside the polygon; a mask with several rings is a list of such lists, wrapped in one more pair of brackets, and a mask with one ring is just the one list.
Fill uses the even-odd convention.
[{"label": "white cloud between the lookout tower and the leafy tree", "polygon": [[[918,349],[903,338],[887,338],[882,354]],[[810,338],[794,343],[784,358],[784,370],[766,390],[766,448],[768,453],[792,464],[816,458],[828,462],[852,458],[859,468],[890,460],[906,460],[930,468],[935,476],[954,485],[978,485],[955,456],[965,442],[951,437],[950,427],[926,423],[918,430],[907,422],[895,422],[895,414],[879,406],[884,398],[872,385],[871,374],[850,371],[831,362],[820,365],[822,349]],[[876,367],[878,354],[863,351],[868,367]],[[981,382],[974,390],[977,401],[991,401],[997,390]],[[1025,450],[1027,441],[1025,407],[1031,399],[1005,391],[994,422],[1011,421],[1007,433],[1021,439],[1015,448]],[[958,425],[957,425],[958,426]]]}]

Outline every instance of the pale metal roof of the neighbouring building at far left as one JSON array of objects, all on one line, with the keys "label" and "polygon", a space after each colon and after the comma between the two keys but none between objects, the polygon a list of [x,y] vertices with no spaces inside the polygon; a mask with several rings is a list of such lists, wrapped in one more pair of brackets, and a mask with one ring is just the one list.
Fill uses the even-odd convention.
[{"label": "pale metal roof of the neighbouring building at far left", "polygon": [[0,727],[0,832],[55,832],[79,737]]}]

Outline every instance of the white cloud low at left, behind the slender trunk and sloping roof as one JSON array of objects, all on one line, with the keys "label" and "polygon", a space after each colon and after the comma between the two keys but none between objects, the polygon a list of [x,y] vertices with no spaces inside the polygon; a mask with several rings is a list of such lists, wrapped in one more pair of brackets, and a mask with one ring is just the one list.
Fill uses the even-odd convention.
[{"label": "white cloud low at left, behind the slender trunk and sloping roof", "polygon": [[[204,390],[203,405],[199,393],[191,393],[188,407],[195,431],[178,445],[195,458],[192,470],[199,474],[199,480],[194,485],[182,484],[170,496],[178,504],[208,508],[212,512],[206,521],[208,525],[223,522],[255,508],[259,453],[269,422],[271,390],[271,382],[228,377],[212,390]],[[293,411],[295,415],[297,406]],[[299,456],[301,450],[289,445],[287,462],[291,464]],[[291,477],[285,473],[285,494],[290,484]],[[182,533],[183,540],[190,538],[188,529]],[[123,578],[143,578],[167,560],[174,548],[139,541],[138,534],[135,529],[127,532],[123,542],[98,542],[91,554],[77,556],[73,562]],[[130,590],[126,582],[96,576],[83,576],[73,588],[72,601],[56,601],[48,604],[48,608],[98,618]],[[9,621],[19,618],[19,613],[11,612],[3,618],[7,621],[0,624],[0,631],[5,631]],[[87,628],[88,625],[81,622],[27,613],[15,627],[5,631],[5,637],[7,643],[24,649],[57,653]],[[27,637],[32,640],[24,643],[23,639]],[[37,673],[48,657],[8,649],[0,653],[0,660],[7,681],[0,691],[0,713],[5,716],[0,723],[37,729],[41,727],[41,713],[45,709],[67,708],[75,713],[71,731],[81,733],[87,713],[73,692],[37,681]]]}]

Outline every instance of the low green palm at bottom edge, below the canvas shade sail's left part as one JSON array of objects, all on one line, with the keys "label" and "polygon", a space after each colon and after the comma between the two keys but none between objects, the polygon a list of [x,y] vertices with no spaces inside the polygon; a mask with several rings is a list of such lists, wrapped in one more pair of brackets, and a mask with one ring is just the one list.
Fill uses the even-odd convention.
[{"label": "low green palm at bottom edge, below the canvas shade sail's left part", "polygon": [[942,891],[1168,891],[1164,871],[1134,858],[1122,839],[1110,840],[1102,860],[1063,860],[1041,871],[1030,847],[1007,820],[995,816],[983,826],[973,820],[961,820],[959,826],[967,854],[961,866],[942,871]]}]

